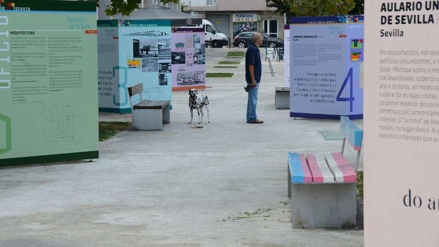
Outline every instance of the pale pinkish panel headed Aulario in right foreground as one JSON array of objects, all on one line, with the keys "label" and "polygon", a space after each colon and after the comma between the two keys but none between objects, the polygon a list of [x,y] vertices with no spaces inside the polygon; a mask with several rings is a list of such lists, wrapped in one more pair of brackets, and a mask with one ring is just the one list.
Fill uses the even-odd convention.
[{"label": "pale pinkish panel headed Aulario in right foreground", "polygon": [[365,246],[439,246],[439,2],[365,1]]}]

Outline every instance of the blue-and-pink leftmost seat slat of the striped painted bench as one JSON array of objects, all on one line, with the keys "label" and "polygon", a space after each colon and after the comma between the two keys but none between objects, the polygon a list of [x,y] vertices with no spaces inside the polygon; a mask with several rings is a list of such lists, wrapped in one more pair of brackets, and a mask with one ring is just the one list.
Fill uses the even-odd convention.
[{"label": "blue-and-pink leftmost seat slat of the striped painted bench", "polygon": [[303,154],[288,153],[288,167],[292,183],[312,183],[311,172]]}]

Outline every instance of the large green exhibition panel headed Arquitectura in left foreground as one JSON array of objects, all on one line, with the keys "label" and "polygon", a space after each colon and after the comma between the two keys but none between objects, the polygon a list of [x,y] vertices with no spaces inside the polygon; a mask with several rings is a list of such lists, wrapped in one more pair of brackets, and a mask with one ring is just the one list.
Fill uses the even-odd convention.
[{"label": "large green exhibition panel headed Arquitectura in left foreground", "polygon": [[0,166],[98,158],[96,3],[5,0]]}]

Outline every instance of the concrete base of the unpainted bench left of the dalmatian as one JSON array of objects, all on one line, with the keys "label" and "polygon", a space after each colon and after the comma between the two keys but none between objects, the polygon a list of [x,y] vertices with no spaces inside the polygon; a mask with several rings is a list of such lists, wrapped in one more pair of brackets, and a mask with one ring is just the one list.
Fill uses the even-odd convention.
[{"label": "concrete base of the unpainted bench left of the dalmatian", "polygon": [[170,123],[169,105],[163,109],[133,109],[135,130],[163,130],[164,123]]}]

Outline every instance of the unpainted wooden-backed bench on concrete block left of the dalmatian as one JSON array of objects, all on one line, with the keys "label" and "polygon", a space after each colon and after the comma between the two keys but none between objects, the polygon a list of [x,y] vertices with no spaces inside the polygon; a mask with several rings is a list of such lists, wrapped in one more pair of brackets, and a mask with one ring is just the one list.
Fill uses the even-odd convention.
[{"label": "unpainted wooden-backed bench on concrete block left of the dalmatian", "polygon": [[[135,130],[163,130],[164,123],[170,123],[169,100],[143,100],[143,84],[128,88],[132,108],[132,124]],[[140,94],[140,102],[133,105],[132,97]]]}]

